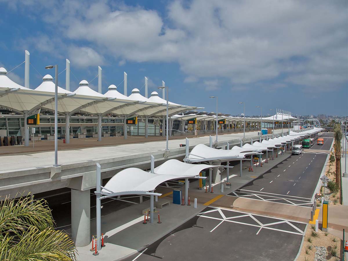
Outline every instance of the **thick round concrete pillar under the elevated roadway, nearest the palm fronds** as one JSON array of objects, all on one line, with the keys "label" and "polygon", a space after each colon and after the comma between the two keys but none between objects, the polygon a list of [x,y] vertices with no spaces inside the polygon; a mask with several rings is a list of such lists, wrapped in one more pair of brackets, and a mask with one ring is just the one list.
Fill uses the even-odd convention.
[{"label": "thick round concrete pillar under the elevated roadway, nearest the palm fronds", "polygon": [[90,194],[71,189],[71,237],[76,246],[90,243]]}]

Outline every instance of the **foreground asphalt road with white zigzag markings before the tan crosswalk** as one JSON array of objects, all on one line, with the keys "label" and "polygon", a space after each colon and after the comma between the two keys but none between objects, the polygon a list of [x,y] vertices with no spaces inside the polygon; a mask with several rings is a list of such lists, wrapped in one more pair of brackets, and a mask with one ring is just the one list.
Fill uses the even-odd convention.
[{"label": "foreground asphalt road with white zigzag markings before the tan crosswalk", "polygon": [[207,207],[125,260],[294,260],[305,226]]}]

